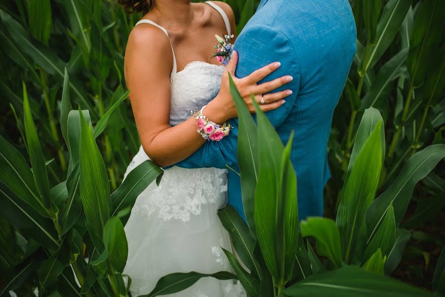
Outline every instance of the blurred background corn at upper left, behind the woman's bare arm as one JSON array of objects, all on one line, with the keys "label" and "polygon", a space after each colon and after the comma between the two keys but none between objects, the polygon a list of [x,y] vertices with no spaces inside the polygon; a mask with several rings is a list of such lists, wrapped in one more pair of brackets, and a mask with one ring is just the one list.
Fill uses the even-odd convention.
[{"label": "blurred background corn at upper left, behind the woman's bare arm", "polygon": [[[134,18],[117,5],[103,0],[14,0],[0,4],[2,44],[0,90],[7,100],[2,104],[5,124],[15,125],[23,101],[21,81],[27,82],[28,98],[47,158],[51,180],[61,182],[68,172],[69,152],[57,126],[64,67],[70,74],[69,91],[73,102],[90,110],[97,122],[118,98],[113,96],[122,84],[123,51]],[[10,105],[11,106],[10,106]],[[125,106],[126,105],[126,106]],[[6,121],[7,119],[7,121]],[[115,190],[121,176],[139,148],[136,126],[129,102],[110,117],[99,148]],[[10,135],[13,137],[13,135]],[[14,137],[13,137],[14,138]],[[24,138],[22,148],[25,148]],[[122,145],[125,139],[125,145]]]}]

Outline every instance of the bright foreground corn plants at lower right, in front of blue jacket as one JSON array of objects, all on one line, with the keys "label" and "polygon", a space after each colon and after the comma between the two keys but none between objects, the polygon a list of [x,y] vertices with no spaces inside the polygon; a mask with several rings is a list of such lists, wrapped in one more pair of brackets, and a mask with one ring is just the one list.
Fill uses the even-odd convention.
[{"label": "bright foreground corn plants at lower right, in front of blue jacket", "polygon": [[[385,275],[396,268],[409,238],[409,231],[398,226],[414,186],[445,157],[445,145],[414,154],[395,182],[375,198],[386,150],[384,124],[377,109],[366,109],[337,220],[308,218],[298,230],[297,179],[290,161],[293,137],[283,146],[258,106],[255,125],[233,81],[231,92],[240,119],[238,160],[247,225],[231,207],[219,216],[248,269],[225,251],[247,294],[428,296]],[[316,253],[324,263],[309,242],[304,243],[307,237],[315,238]],[[442,277],[443,264],[438,270]]]}]

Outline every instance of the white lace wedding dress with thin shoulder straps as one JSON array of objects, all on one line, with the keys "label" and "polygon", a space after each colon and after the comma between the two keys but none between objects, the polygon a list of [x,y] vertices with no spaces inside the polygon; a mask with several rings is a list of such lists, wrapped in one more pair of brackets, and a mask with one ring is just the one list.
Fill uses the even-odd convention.
[{"label": "white lace wedding dress with thin shoulder straps", "polygon": [[[221,13],[230,34],[224,11],[216,4],[208,4]],[[137,25],[143,22],[167,34],[149,20],[141,20]],[[174,53],[173,61],[170,123],[177,125],[191,116],[192,109],[207,104],[217,95],[224,67],[195,61],[176,72]],[[141,147],[125,177],[145,160],[148,156]],[[233,250],[230,238],[217,216],[218,209],[226,203],[225,169],[174,166],[165,170],[159,187],[155,182],[150,184],[137,198],[125,226],[129,249],[123,273],[132,279],[132,295],[148,294],[159,278],[170,273],[233,272],[221,249]],[[206,277],[185,291],[168,296],[237,297],[246,293],[236,280]]]}]

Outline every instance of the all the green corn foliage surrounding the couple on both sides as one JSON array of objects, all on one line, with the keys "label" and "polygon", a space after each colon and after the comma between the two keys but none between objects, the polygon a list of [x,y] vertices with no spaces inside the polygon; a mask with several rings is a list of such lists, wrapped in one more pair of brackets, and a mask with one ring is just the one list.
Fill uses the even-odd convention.
[{"label": "all the green corn foliage surrounding the couple on both sides", "polygon": [[[259,1],[226,2],[240,32]],[[238,279],[251,297],[445,295],[444,239],[419,231],[445,205],[445,2],[350,2],[357,54],[334,115],[325,218],[298,222],[292,137],[283,144],[259,108],[255,123],[232,83],[252,207],[247,224],[218,213],[235,274],[175,273],[146,296],[201,277]],[[129,295],[124,226],[163,173],[146,161],[122,183],[140,146],[122,76],[140,17],[108,0],[0,3],[0,296]],[[422,241],[442,249],[431,263]],[[413,258],[433,265],[422,289],[394,278]]]}]

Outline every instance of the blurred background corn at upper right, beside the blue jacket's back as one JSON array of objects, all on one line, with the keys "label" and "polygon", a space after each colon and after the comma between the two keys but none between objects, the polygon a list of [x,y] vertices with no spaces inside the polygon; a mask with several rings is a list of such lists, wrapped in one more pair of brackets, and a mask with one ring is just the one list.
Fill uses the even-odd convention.
[{"label": "blurred background corn at upper right, beside the blue jacket's back", "polygon": [[[414,153],[443,143],[445,123],[444,1],[351,0],[351,5],[357,53],[329,143],[333,179],[327,194],[334,212],[357,135],[357,117],[367,108],[379,109],[385,121],[388,149],[379,192]],[[348,122],[345,114],[350,114]],[[437,169],[432,176],[443,173]]]}]

